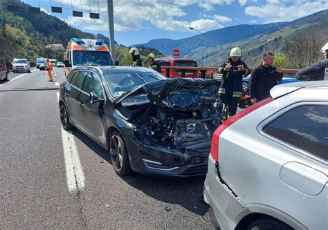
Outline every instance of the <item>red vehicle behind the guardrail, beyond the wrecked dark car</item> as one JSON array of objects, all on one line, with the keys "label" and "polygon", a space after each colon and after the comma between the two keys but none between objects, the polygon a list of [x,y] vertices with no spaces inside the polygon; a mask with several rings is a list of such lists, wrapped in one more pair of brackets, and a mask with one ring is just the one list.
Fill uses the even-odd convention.
[{"label": "red vehicle behind the guardrail, beyond the wrecked dark car", "polygon": [[[193,59],[181,59],[172,57],[161,57],[155,59],[161,66],[185,66],[197,67],[197,61]],[[163,75],[166,76],[165,68],[162,68]],[[182,70],[170,70],[170,77],[181,77]],[[185,70],[185,77],[198,77],[198,70]]]}]

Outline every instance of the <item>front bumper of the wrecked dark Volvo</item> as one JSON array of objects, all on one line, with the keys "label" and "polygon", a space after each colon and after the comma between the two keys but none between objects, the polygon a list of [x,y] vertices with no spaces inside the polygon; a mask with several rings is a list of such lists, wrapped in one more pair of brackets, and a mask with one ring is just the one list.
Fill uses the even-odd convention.
[{"label": "front bumper of the wrecked dark Volvo", "polygon": [[125,139],[131,168],[144,175],[166,175],[172,177],[190,177],[206,175],[208,171],[208,153],[146,146],[132,139]]}]

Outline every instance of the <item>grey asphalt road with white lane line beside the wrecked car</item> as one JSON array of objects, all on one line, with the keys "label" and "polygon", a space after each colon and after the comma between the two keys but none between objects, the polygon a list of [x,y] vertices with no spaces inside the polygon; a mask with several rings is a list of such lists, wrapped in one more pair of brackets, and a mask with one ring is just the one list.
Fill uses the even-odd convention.
[{"label": "grey asphalt road with white lane line beside the wrecked car", "polygon": [[[64,68],[53,71],[59,84],[43,72],[0,82],[0,229],[213,229],[204,177],[120,178],[107,151],[80,131],[62,130]],[[73,179],[80,179],[70,184],[77,168]]]}]

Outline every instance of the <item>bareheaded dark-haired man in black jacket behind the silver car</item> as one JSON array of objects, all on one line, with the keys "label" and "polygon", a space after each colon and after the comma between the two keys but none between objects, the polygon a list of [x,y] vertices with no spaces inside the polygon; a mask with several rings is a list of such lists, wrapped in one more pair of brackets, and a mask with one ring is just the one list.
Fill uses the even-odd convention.
[{"label": "bareheaded dark-haired man in black jacket behind the silver car", "polygon": [[262,64],[255,68],[250,76],[249,94],[253,104],[270,97],[270,90],[277,81],[283,77],[282,70],[273,66],[275,55],[273,52],[266,52],[262,57]]}]

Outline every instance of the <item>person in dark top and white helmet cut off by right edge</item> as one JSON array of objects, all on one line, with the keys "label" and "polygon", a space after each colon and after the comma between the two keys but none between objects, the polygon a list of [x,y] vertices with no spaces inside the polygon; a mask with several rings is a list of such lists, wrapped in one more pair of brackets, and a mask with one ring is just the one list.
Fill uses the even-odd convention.
[{"label": "person in dark top and white helmet cut off by right edge", "polygon": [[321,48],[321,52],[325,53],[325,59],[316,61],[315,63],[298,70],[296,78],[306,81],[319,81],[325,77],[325,69],[328,68],[328,43]]}]

